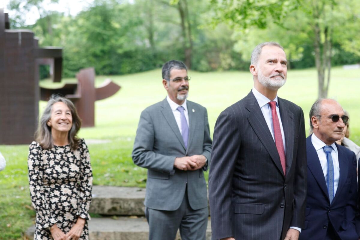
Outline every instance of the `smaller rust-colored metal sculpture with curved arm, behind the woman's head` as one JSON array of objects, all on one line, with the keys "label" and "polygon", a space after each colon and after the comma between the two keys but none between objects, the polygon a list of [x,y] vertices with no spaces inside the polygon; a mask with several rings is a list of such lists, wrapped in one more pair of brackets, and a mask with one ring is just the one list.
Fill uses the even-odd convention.
[{"label": "smaller rust-colored metal sculpture with curved arm, behind the woman's head", "polygon": [[110,79],[101,87],[95,88],[94,68],[81,69],[76,74],[77,84],[66,84],[59,89],[41,87],[41,100],[48,100],[51,94],[61,94],[75,103],[77,112],[82,119],[83,127],[95,126],[95,101],[109,98],[120,90],[120,86]]}]

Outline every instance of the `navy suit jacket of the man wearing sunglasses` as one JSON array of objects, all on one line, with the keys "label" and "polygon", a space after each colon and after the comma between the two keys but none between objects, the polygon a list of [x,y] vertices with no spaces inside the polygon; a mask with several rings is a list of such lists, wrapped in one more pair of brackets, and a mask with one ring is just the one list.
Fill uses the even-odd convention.
[{"label": "navy suit jacket of the man wearing sunglasses", "polygon": [[355,153],[335,144],[338,149],[339,185],[330,204],[327,185],[311,135],[306,139],[307,200],[305,227],[299,240],[323,240],[331,224],[337,239],[357,240],[356,227],[357,180]]}]

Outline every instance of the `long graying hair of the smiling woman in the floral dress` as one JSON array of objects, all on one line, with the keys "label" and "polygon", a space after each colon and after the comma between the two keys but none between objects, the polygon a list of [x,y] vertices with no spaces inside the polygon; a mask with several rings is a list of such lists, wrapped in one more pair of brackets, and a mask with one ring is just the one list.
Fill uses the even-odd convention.
[{"label": "long graying hair of the smiling woman in the floral dress", "polygon": [[81,127],[81,119],[78,116],[76,108],[72,101],[55,94],[51,95],[48,104],[45,107],[44,113],[40,118],[39,126],[37,127],[37,130],[35,132],[35,140],[39,142],[40,146],[43,149],[50,149],[54,146],[53,137],[51,136],[51,127],[49,127],[47,123],[51,118],[51,109],[53,108],[53,105],[58,102],[65,103],[71,111],[72,127],[68,134],[68,142],[71,148],[73,150],[76,150],[79,144],[77,132],[80,130]]}]

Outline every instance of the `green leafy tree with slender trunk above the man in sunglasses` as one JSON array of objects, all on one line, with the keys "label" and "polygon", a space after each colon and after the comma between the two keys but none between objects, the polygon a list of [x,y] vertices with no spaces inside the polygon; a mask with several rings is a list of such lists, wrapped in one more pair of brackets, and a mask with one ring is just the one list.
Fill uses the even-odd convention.
[{"label": "green leafy tree with slender trunk above the man in sunglasses", "polygon": [[[280,36],[286,36],[290,32],[294,32],[294,36],[305,33],[313,43],[315,52],[319,98],[326,98],[328,94],[333,45],[339,44],[344,49],[351,49],[352,53],[359,54],[359,4],[356,0],[212,0],[212,6],[217,12],[217,22],[226,21],[241,30],[253,26],[264,29],[275,24],[284,29]],[[287,23],[296,26],[287,28]],[[344,29],[352,31],[344,34]],[[288,40],[292,42],[294,38]]]}]

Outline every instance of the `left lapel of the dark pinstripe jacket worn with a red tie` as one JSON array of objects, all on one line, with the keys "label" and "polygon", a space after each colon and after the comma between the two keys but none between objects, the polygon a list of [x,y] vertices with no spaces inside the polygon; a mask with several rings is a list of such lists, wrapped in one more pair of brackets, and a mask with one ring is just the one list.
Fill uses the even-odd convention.
[{"label": "left lapel of the dark pinstripe jacket worn with a red tie", "polygon": [[276,167],[279,169],[280,173],[285,178],[283,168],[280,162],[279,153],[276,149],[275,141],[273,139],[273,136],[271,136],[264,115],[262,114],[259,104],[257,103],[257,100],[252,91],[250,91],[250,93],[246,96],[245,108],[250,112],[247,118],[251,127],[255,131],[261,143],[264,145],[267,152],[270,154],[270,157],[275,163]]}]

